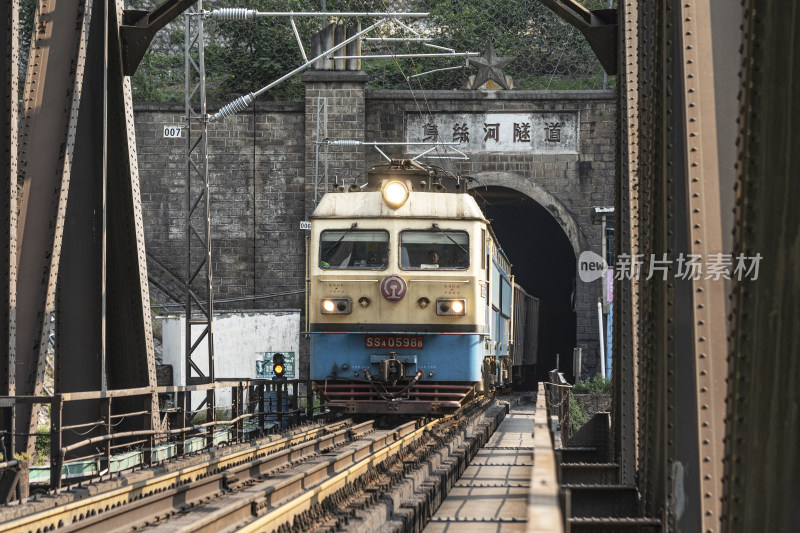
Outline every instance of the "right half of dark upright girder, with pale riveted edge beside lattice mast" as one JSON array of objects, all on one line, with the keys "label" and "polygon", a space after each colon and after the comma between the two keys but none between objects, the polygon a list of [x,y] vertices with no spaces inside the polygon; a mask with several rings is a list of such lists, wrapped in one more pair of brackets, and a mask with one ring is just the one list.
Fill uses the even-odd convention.
[{"label": "right half of dark upright girder, with pale riveted edge beside lattice mast", "polygon": [[[108,250],[107,378],[109,388],[155,387],[156,367],[144,220],[133,122],[130,78],[124,75],[119,37],[123,2],[109,9],[108,47]],[[138,400],[123,411],[138,411]],[[138,427],[161,427],[158,397],[145,400],[150,415],[129,421]]]}]

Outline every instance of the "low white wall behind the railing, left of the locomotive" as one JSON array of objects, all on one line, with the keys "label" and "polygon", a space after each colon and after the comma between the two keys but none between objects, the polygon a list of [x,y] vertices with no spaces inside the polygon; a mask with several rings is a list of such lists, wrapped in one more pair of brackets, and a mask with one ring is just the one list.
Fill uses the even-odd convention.
[{"label": "low white wall behind the railing, left of the locomotive", "polygon": [[[160,320],[163,325],[163,362],[172,365],[173,384],[186,385],[185,316],[164,316]],[[201,327],[193,328],[192,342],[200,336],[201,331]],[[294,352],[295,368],[299,368],[299,310],[214,314],[214,370],[217,379],[255,378],[256,360],[261,359],[263,352]],[[207,339],[203,339],[192,359],[208,375]],[[192,394],[193,408],[202,401],[200,396]],[[230,389],[218,391],[216,403],[230,404]]]}]

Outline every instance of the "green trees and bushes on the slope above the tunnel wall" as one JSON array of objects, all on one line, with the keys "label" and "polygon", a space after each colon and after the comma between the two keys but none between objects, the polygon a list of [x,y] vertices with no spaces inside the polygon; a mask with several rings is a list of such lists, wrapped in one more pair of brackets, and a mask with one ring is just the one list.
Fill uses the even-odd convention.
[{"label": "green trees and bushes on the slope above the tunnel wall", "polygon": [[[24,0],[29,2],[31,0]],[[589,9],[607,7],[607,0],[581,0]],[[152,0],[130,0],[131,7],[152,8]],[[232,0],[225,7],[259,11],[318,11],[316,0]],[[328,11],[386,11],[383,0],[328,0]],[[603,87],[602,69],[583,36],[538,2],[517,0],[412,0],[402,8],[389,10],[429,12],[414,22],[435,44],[456,51],[483,53],[489,41],[498,56],[515,56],[504,72],[518,89],[584,90]],[[361,27],[376,22],[375,17],[360,20]],[[335,22],[328,20],[328,22]],[[347,24],[356,22],[348,17]],[[406,21],[411,23],[410,21]],[[311,36],[322,24],[321,17],[295,19],[306,55],[311,58]],[[277,80],[304,61],[286,17],[259,17],[250,20],[205,20],[205,65],[207,101],[227,103]],[[407,35],[399,27],[383,26],[371,36]],[[181,101],[184,94],[183,17],[162,30],[133,76],[136,100]],[[364,55],[387,53],[440,52],[422,43],[385,44],[363,42]],[[196,59],[196,58],[195,58]],[[457,89],[475,74],[473,67],[445,70],[409,80],[413,74],[463,66],[462,58],[408,58],[362,61],[371,76],[367,89]],[[608,87],[614,87],[609,78]],[[304,86],[299,76],[284,81],[261,97],[262,100],[299,101]]]}]

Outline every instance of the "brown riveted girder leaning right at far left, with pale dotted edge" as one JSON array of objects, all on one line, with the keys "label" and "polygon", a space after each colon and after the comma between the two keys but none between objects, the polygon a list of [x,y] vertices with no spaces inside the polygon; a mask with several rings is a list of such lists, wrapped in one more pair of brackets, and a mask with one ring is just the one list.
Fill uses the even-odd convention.
[{"label": "brown riveted girder leaning right at far left, with pale dotted edge", "polygon": [[[42,393],[81,100],[91,0],[40,1],[23,92],[17,233],[17,394]],[[17,408],[34,450],[38,406]]]}]

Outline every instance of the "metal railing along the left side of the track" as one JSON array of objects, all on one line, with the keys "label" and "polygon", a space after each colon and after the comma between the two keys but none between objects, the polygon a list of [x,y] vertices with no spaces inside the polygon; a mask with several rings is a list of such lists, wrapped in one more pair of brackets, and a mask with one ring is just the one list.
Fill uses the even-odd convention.
[{"label": "metal railing along the left side of the track", "polygon": [[[300,408],[299,402],[301,384],[306,385],[306,406],[304,409]],[[211,408],[203,402],[199,408],[194,410],[191,409],[191,405],[188,405],[189,397],[192,393],[219,389],[231,390],[230,404],[215,405]],[[112,414],[115,400],[136,397],[146,398],[153,395],[158,395],[159,399],[164,400],[163,403],[165,404],[163,408],[160,407],[158,410],[159,419],[162,421],[160,427],[114,431],[114,428],[123,418],[151,415],[150,409]],[[119,470],[142,465],[152,466],[164,458],[193,453],[213,446],[219,441],[227,441],[229,443],[243,442],[252,436],[261,436],[270,430],[283,428],[287,423],[297,424],[303,414],[307,419],[313,419],[315,415],[324,410],[324,407],[321,406],[321,401],[317,402],[319,405],[315,406],[315,398],[316,395],[309,381],[298,379],[280,381],[236,379],[220,380],[203,385],[140,387],[109,391],[62,393],[53,396],[3,396],[0,397],[0,408],[9,409],[13,417],[16,406],[20,404],[48,404],[50,406],[49,489],[57,490],[62,487],[65,481],[63,471],[65,464],[68,462],[75,464],[78,461],[94,460],[98,465],[102,466],[104,464],[105,472],[110,474],[112,472],[112,455],[127,449],[141,452],[140,462],[125,466]],[[70,402],[87,400],[100,402],[99,420],[63,426],[64,406]],[[160,401],[159,403],[162,402]],[[225,419],[217,419],[219,410],[223,410],[226,414],[230,410],[230,418],[225,416]],[[202,416],[203,413],[205,413],[205,418]],[[220,431],[218,431],[220,428],[226,428],[225,435],[220,436]],[[97,435],[97,430],[101,434]],[[80,441],[64,445],[64,432],[66,431],[73,431],[78,434],[83,432],[86,435],[94,431],[95,434]],[[28,436],[21,433],[16,435]],[[11,439],[6,438],[6,435],[3,437],[3,451],[6,461],[0,463],[0,473],[6,474],[4,471],[9,469],[19,470],[21,461],[9,460],[12,456],[12,449],[8,445]],[[98,453],[70,457],[71,452],[85,449],[88,446],[94,446]],[[164,451],[165,446],[169,450]],[[164,453],[158,453],[159,451],[164,451]],[[97,470],[99,472],[97,475],[104,473],[101,468]],[[81,476],[81,479],[97,477],[97,475]],[[16,475],[15,479],[18,477],[19,475]],[[19,491],[16,490],[16,481],[12,485],[14,486],[9,487],[6,485],[4,487],[7,494],[0,494],[0,497],[6,497],[6,501],[11,498],[11,491],[16,491],[18,497],[25,496],[24,494],[19,494]]]}]

